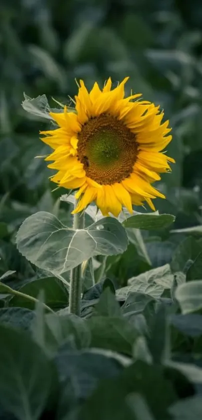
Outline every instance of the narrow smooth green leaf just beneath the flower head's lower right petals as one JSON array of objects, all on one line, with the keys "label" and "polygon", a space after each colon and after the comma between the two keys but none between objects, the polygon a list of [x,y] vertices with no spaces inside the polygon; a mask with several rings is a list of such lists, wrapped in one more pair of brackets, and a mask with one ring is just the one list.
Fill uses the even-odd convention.
[{"label": "narrow smooth green leaf just beneath the flower head's lower right petals", "polygon": [[134,215],[126,219],[122,224],[125,228],[144,229],[154,231],[165,229],[174,222],[172,215]]}]

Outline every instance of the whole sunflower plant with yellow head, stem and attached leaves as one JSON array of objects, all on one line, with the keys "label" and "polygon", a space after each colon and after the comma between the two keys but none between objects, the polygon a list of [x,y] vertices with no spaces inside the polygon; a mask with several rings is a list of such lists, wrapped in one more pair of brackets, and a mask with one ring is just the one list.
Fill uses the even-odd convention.
[{"label": "whole sunflower plant with yellow head, stem and attached leaves", "polygon": [[[158,229],[174,220],[155,212],[153,200],[165,196],[152,185],[174,163],[163,151],[172,139],[169,121],[140,93],[125,96],[127,80],[112,88],[109,78],[102,89],[95,82],[90,92],[81,80],[74,108],[61,104],[51,110],[45,95],[23,102],[24,109],[52,124],[40,132],[52,148],[45,160],[56,171],[51,181],[73,192],[61,199],[74,203],[74,209],[71,228],[53,214],[32,215],[21,226],[17,245],[33,264],[63,281],[69,311],[76,315],[82,282],[96,256],[103,256],[102,265],[108,256],[123,253],[130,228]],[[135,211],[144,203],[153,213]],[[91,224],[85,224],[85,215]],[[102,267],[100,272],[102,279]]]}]

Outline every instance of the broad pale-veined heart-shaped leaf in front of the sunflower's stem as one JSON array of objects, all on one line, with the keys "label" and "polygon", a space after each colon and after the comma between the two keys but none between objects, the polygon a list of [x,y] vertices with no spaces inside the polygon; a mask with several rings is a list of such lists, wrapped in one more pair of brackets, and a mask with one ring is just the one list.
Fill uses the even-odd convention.
[{"label": "broad pale-veined heart-shaped leaf in front of the sunflower's stem", "polygon": [[36,266],[56,274],[71,270],[93,255],[122,253],[127,243],[124,228],[114,218],[103,218],[78,231],[46,212],[26,219],[17,235],[19,251]]}]

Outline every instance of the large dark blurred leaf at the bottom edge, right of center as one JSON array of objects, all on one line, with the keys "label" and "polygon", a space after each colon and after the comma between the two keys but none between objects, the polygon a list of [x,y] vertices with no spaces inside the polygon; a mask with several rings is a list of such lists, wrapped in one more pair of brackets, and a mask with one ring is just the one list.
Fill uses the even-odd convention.
[{"label": "large dark blurred leaf at the bottom edge, right of center", "polygon": [[[138,360],[115,378],[105,379],[99,384],[93,395],[81,407],[79,420],[138,418],[127,404],[128,396],[134,392],[145,398],[156,420],[166,418],[168,406],[177,400],[172,381],[165,378],[163,367]],[[139,419],[143,420],[141,417]]]}]

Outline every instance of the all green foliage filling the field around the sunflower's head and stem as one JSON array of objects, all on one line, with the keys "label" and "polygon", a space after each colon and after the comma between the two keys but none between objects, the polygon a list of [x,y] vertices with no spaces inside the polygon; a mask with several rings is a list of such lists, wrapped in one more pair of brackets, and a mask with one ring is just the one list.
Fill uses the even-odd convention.
[{"label": "all green foliage filling the field around the sunflower's head and stem", "polygon": [[[1,6],[0,419],[198,420],[201,4]],[[50,152],[39,131],[53,127],[50,111],[73,111],[75,78],[91,88],[109,76],[113,86],[130,76],[128,94],[164,109],[176,163],[155,185],[159,213],[145,205],[116,220],[91,204],[78,232],[72,191],[52,191],[35,159]],[[68,310],[80,263],[81,318]]]}]

